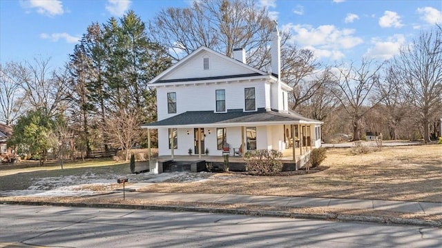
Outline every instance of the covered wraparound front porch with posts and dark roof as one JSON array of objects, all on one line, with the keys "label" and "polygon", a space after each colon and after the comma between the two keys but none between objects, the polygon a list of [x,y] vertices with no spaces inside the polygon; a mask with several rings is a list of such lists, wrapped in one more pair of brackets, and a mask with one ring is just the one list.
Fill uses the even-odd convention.
[{"label": "covered wraparound front porch with posts and dark roof", "polygon": [[296,114],[235,112],[206,119],[186,113],[143,126],[158,130],[159,163],[222,163],[229,154],[229,163],[244,164],[248,151],[276,149],[282,152],[282,163],[299,169],[311,149],[320,147],[321,123]]}]

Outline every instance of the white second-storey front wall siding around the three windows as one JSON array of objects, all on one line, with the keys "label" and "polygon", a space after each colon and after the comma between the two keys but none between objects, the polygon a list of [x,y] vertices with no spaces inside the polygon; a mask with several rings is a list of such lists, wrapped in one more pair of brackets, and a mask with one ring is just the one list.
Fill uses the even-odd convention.
[{"label": "white second-storey front wall siding around the three windows", "polygon": [[226,90],[227,110],[244,110],[244,88],[255,87],[256,107],[265,107],[264,82],[237,82],[219,84],[198,84],[157,88],[158,121],[174,116],[167,112],[167,93],[177,94],[177,113],[186,111],[215,110],[215,90]]}]

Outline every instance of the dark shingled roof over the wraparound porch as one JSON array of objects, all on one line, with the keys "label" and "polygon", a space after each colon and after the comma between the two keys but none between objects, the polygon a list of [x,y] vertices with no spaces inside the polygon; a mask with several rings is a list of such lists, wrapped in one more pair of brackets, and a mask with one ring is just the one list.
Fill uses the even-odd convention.
[{"label": "dark shingled roof over the wraparound porch", "polygon": [[155,123],[143,124],[143,128],[173,127],[233,127],[242,125],[322,124],[296,112],[280,113],[259,109],[257,112],[229,110],[227,113],[213,111],[187,111]]}]

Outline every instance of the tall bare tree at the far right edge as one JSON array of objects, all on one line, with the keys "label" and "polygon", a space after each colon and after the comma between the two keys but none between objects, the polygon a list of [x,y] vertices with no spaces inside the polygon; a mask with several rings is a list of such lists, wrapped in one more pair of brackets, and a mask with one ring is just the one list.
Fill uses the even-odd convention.
[{"label": "tall bare tree at the far right edge", "polygon": [[419,117],[423,140],[430,141],[430,120],[442,108],[442,29],[423,32],[394,59],[403,94]]}]

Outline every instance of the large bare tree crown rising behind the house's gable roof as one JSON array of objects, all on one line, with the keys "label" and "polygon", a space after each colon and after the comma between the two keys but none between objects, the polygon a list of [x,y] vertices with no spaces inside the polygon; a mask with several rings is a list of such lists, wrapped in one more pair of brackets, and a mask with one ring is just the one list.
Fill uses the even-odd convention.
[{"label": "large bare tree crown rising behind the house's gable roof", "polygon": [[271,30],[275,23],[255,1],[194,1],[189,8],[161,10],[149,24],[153,40],[170,48],[175,61],[204,45],[232,56],[244,48],[247,63],[258,69],[269,63]]}]

